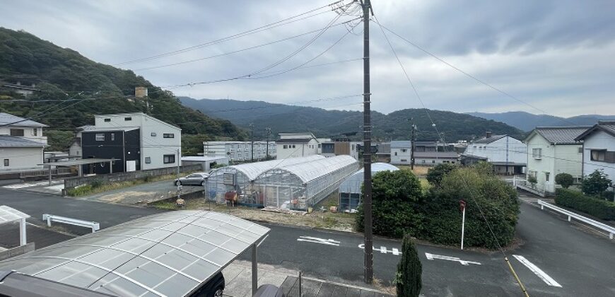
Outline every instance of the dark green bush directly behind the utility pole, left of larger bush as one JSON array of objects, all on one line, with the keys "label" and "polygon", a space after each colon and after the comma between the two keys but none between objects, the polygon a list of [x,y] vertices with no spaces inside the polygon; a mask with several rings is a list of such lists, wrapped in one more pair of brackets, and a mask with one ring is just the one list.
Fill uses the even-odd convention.
[{"label": "dark green bush directly behind the utility pole, left of larger bush", "polygon": [[[410,170],[381,171],[372,180],[373,232],[401,238],[415,234],[421,226],[418,203],[423,197],[421,182]],[[358,231],[363,231],[363,204],[358,207]]]}]

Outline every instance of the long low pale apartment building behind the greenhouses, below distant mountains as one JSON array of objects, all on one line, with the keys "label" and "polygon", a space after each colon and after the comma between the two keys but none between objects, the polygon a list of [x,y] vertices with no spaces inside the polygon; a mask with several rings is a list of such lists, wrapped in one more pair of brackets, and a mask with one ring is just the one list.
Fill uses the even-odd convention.
[{"label": "long low pale apartment building behind the greenhouses, below distant mountains", "polygon": [[[203,155],[207,157],[228,158],[232,162],[252,160],[252,147],[254,147],[254,161],[275,158],[277,156],[275,141],[204,141]],[[267,153],[269,150],[269,153]]]}]

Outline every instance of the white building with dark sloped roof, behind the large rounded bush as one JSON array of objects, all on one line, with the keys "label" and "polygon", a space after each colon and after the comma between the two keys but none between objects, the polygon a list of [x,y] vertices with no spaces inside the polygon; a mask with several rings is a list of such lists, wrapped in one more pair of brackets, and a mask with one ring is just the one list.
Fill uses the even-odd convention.
[{"label": "white building with dark sloped roof, behind the large rounded bush", "polygon": [[486,161],[499,174],[522,174],[527,163],[527,146],[514,137],[486,132],[485,137],[467,146],[461,160],[464,165]]}]

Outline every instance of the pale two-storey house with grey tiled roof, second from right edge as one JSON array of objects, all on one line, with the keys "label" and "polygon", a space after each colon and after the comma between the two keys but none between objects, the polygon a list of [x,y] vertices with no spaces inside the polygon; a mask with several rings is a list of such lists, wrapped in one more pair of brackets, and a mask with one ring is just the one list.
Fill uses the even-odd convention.
[{"label": "pale two-storey house with grey tiled roof, second from right edge", "polygon": [[537,127],[525,138],[527,177],[536,177],[541,192],[554,193],[555,176],[582,177],[582,142],[575,140],[589,127]]}]

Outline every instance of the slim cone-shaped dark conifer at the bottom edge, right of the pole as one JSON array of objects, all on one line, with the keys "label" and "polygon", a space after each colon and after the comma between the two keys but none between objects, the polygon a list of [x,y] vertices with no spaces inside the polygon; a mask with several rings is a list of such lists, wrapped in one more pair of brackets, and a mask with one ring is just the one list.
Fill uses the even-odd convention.
[{"label": "slim cone-shaped dark conifer at the bottom edge, right of the pole", "polygon": [[423,266],[410,235],[404,235],[402,259],[397,264],[397,296],[418,297],[421,293]]}]

